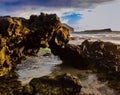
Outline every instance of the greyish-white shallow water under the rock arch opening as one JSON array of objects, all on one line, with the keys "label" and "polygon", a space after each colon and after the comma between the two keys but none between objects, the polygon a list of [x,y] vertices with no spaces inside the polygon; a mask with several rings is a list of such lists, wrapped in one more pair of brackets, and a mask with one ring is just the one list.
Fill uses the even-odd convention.
[{"label": "greyish-white shallow water under the rock arch opening", "polygon": [[37,57],[29,57],[17,66],[17,73],[22,84],[28,83],[34,77],[48,75],[54,69],[56,64],[62,61],[54,55],[43,56],[45,53],[51,53],[49,49],[40,50]]}]

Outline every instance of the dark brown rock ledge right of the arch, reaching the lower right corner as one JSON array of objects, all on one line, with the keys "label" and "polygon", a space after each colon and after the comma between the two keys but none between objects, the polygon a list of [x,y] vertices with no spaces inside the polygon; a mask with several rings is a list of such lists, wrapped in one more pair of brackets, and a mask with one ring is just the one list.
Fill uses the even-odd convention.
[{"label": "dark brown rock ledge right of the arch, reaching the lower right corner", "polygon": [[101,81],[120,91],[120,45],[103,41],[85,40],[81,45],[66,44],[64,48],[54,48],[63,63],[78,69],[91,69]]}]

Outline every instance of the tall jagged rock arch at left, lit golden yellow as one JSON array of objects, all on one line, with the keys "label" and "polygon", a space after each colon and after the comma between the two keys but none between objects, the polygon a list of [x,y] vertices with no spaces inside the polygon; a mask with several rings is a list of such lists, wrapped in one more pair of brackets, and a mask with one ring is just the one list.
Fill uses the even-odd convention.
[{"label": "tall jagged rock arch at left, lit golden yellow", "polygon": [[41,13],[29,19],[0,17],[0,76],[26,55],[37,55],[40,47],[62,47],[68,40],[69,30],[56,14]]}]

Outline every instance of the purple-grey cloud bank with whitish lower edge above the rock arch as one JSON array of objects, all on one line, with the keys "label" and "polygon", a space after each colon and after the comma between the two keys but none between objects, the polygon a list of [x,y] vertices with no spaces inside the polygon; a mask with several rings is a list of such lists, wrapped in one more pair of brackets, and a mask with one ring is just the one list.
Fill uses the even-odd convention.
[{"label": "purple-grey cloud bank with whitish lower edge above the rock arch", "polygon": [[113,0],[0,0],[0,15],[29,17],[40,12],[56,13],[75,12]]}]

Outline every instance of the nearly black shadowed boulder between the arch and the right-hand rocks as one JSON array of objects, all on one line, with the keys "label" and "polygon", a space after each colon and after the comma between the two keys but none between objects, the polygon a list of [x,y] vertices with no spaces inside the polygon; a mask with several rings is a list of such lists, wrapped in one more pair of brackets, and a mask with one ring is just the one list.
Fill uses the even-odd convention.
[{"label": "nearly black shadowed boulder between the arch and the right-hand rocks", "polygon": [[58,55],[64,64],[72,65],[77,68],[87,68],[81,47],[74,44],[66,44],[64,47],[51,47],[51,52]]}]

